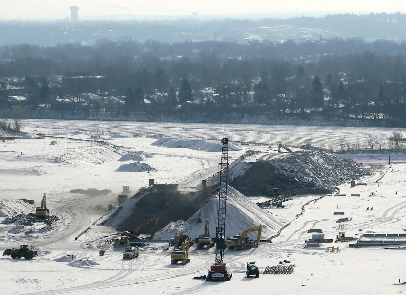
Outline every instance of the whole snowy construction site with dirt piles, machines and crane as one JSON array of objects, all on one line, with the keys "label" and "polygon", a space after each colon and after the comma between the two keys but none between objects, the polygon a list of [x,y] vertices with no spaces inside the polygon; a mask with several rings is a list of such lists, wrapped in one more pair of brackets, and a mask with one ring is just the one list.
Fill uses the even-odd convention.
[{"label": "whole snowy construction site with dirt piles, machines and crane", "polygon": [[3,294],[404,291],[402,154],[24,131],[0,143]]}]

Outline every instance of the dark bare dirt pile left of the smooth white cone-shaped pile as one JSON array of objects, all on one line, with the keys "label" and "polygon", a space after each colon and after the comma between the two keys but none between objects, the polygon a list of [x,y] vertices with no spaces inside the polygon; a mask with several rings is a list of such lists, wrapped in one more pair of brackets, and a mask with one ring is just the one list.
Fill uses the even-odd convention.
[{"label": "dark bare dirt pile left of the smooth white cone-shaped pile", "polygon": [[[100,224],[118,230],[134,230],[143,220],[158,217],[158,230],[179,219],[188,220],[204,205],[212,190],[180,193],[174,186],[155,185],[141,190],[114,209]],[[141,229],[150,233],[152,224]]]}]

